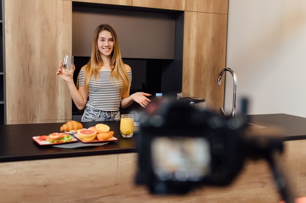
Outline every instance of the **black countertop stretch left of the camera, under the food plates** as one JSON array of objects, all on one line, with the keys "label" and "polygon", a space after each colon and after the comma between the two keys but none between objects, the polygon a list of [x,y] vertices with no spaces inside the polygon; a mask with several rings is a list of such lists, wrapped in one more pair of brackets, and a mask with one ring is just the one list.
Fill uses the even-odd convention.
[{"label": "black countertop stretch left of the camera, under the food plates", "polygon": [[99,147],[55,148],[49,145],[40,146],[32,137],[60,132],[64,123],[0,125],[0,162],[136,152],[137,131],[131,138],[123,138],[120,134],[120,121],[83,122],[82,124],[83,128],[89,128],[98,123],[108,125],[110,130],[114,131],[113,136],[118,140]]}]

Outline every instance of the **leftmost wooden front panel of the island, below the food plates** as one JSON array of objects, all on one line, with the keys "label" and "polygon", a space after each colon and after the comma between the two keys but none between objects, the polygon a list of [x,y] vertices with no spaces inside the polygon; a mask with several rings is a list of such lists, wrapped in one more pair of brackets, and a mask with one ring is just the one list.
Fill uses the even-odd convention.
[{"label": "leftmost wooden front panel of the island, below the food plates", "polygon": [[0,163],[2,203],[116,203],[118,155]]}]

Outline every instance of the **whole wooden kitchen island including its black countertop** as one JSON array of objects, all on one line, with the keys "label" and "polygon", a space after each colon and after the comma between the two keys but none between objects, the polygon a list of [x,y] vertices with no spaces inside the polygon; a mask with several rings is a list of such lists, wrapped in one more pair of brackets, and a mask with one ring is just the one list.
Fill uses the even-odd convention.
[{"label": "whole wooden kitchen island including its black countertop", "polygon": [[[283,162],[297,197],[306,196],[306,118],[251,115],[251,123],[285,130]],[[84,128],[98,122],[83,123]],[[100,122],[101,123],[101,122]],[[248,160],[229,187],[202,187],[184,196],[153,196],[134,185],[136,138],[120,136],[119,122],[104,122],[118,141],[101,147],[39,146],[32,136],[63,123],[0,126],[0,203],[278,203],[268,165]]]}]

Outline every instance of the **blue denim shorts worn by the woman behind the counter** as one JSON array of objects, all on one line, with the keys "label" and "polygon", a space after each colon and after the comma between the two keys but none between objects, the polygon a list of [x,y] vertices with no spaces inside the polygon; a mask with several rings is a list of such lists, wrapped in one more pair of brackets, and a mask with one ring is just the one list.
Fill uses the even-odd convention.
[{"label": "blue denim shorts worn by the woman behind the counter", "polygon": [[119,121],[120,112],[119,111],[101,111],[91,107],[86,107],[83,116],[81,118],[82,122],[87,121]]}]

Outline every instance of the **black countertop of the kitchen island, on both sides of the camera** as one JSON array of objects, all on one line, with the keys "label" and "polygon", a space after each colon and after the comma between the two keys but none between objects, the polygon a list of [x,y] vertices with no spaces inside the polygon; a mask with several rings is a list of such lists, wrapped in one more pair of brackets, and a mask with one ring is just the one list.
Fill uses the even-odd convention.
[{"label": "black countertop of the kitchen island, on both sides of the camera", "polygon": [[[54,148],[40,146],[33,136],[59,132],[64,123],[0,125],[0,162],[52,159],[103,154],[137,152],[135,132],[131,138],[123,138],[119,131],[119,121],[83,122],[84,128],[97,123],[107,124],[114,132],[117,141],[100,147]],[[250,115],[250,123],[260,126],[278,126],[284,129],[284,141],[306,139],[306,118],[288,114]]]}]

